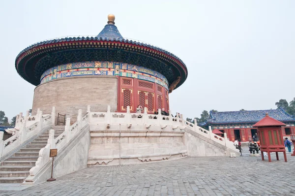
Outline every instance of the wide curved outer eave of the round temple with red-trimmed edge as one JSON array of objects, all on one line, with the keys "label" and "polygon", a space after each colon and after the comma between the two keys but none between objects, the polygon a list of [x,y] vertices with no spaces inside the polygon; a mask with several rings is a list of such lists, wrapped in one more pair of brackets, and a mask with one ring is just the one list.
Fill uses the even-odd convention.
[{"label": "wide curved outer eave of the round temple with red-trimmed edge", "polygon": [[[170,66],[173,66],[175,69],[177,69],[180,75],[180,82],[177,84],[176,88],[179,87],[187,78],[186,65],[177,56],[173,55],[172,53],[166,50],[128,39],[108,40],[103,39],[101,37],[69,37],[36,43],[34,45],[27,47],[17,56],[15,61],[15,67],[21,77],[23,77],[29,83],[37,86],[40,84],[40,81],[37,81],[36,78],[32,77],[32,73],[27,73],[28,71],[26,72],[27,62],[33,61],[35,65],[40,59],[46,56],[46,54],[52,52],[75,50],[76,48],[100,50],[103,49],[103,47],[107,47],[111,50],[114,48],[121,48],[124,50],[128,50],[129,52],[136,51],[141,55],[148,56],[150,58],[169,64]],[[35,67],[31,68],[32,69],[30,69],[29,71],[34,71]],[[30,74],[30,76],[28,74]]]}]

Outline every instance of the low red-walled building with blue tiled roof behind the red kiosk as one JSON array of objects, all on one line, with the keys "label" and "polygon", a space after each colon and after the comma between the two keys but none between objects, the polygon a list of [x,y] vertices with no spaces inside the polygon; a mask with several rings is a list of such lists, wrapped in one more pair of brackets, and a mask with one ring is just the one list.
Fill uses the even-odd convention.
[{"label": "low red-walled building with blue tiled roof behind the red kiosk", "polygon": [[263,119],[266,113],[270,117],[287,125],[282,128],[284,137],[290,137],[290,134],[295,133],[295,117],[283,109],[232,112],[210,111],[209,119],[206,123],[201,124],[201,126],[211,126],[213,131],[218,130],[227,133],[231,141],[238,139],[245,142],[252,140],[255,133],[257,133],[257,128],[253,128],[252,126]]}]

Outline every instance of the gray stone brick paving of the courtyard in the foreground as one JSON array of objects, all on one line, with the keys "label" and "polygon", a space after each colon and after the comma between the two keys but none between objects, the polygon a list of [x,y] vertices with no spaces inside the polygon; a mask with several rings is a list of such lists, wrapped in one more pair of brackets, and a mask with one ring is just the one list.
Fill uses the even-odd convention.
[{"label": "gray stone brick paving of the courtyard in the foreground", "polygon": [[295,196],[295,157],[187,157],[94,166],[0,196]]}]

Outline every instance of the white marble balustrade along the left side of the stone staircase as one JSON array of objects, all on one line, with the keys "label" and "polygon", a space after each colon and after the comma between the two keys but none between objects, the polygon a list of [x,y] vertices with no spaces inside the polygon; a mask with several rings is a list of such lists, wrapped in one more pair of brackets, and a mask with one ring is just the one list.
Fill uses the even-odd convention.
[{"label": "white marble balustrade along the left side of the stone staircase", "polygon": [[22,113],[20,113],[17,116],[15,128],[6,130],[12,133],[13,136],[3,141],[3,132],[0,132],[0,160],[22,144],[27,143],[43,128],[54,125],[54,121],[55,107],[53,107],[52,113],[47,115],[43,115],[39,109],[37,115],[33,117],[29,117],[29,111],[27,111],[26,117],[23,117]]}]

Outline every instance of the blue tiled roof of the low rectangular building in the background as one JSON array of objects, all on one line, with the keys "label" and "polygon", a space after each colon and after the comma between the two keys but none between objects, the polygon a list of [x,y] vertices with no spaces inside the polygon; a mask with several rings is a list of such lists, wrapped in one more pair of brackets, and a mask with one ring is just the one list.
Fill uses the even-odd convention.
[{"label": "blue tiled roof of the low rectangular building in the background", "polygon": [[201,126],[207,124],[254,124],[268,115],[281,122],[295,122],[295,117],[288,114],[283,109],[274,110],[252,110],[252,111],[233,111],[233,112],[212,112],[210,111],[209,120]]}]

